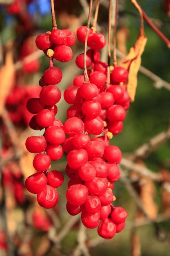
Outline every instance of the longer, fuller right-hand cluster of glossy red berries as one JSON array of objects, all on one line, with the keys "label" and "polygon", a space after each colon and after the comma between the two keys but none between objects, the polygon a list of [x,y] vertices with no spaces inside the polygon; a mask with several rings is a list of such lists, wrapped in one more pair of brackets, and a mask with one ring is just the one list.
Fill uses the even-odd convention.
[{"label": "longer, fuller right-hand cluster of glossy red berries", "polygon": [[[79,27],[77,38],[84,43],[86,26]],[[120,177],[121,151],[109,145],[109,137],[121,132],[129,96],[123,85],[128,72],[115,67],[111,83],[106,85],[108,65],[102,63],[99,50],[106,40],[90,29],[86,55],[89,82],[84,74],[76,76],[73,85],[64,91],[67,109],[64,131],[68,135],[62,144],[67,155],[66,175],[70,178],[66,191],[66,209],[71,215],[81,213],[84,226],[97,228],[100,236],[110,239],[125,226],[127,212],[113,207],[114,182]],[[79,54],[76,64],[84,67],[84,54]],[[119,85],[122,83],[122,85]],[[104,133],[104,135],[102,134]],[[97,135],[91,139],[89,136]]]}]

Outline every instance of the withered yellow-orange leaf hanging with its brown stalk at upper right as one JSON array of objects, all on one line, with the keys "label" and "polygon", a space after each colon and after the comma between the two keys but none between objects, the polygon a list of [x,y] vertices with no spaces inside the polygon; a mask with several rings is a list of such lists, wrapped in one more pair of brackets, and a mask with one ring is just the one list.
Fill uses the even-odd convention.
[{"label": "withered yellow-orange leaf hanging with its brown stalk at upper right", "polygon": [[137,88],[137,73],[141,65],[141,55],[144,52],[147,38],[144,33],[144,20],[141,8],[135,0],[131,0],[131,2],[135,5],[135,7],[140,13],[141,27],[135,45],[130,48],[128,55],[126,56],[125,60],[121,63],[121,67],[124,67],[128,70],[126,88],[130,96],[130,101],[134,101]]}]

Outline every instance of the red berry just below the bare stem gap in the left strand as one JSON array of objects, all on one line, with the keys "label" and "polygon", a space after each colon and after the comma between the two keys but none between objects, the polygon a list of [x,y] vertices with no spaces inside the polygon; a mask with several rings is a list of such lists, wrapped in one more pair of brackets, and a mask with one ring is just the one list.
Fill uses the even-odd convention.
[{"label": "red berry just below the bare stem gap in the left strand", "polygon": [[44,72],[44,81],[48,84],[55,85],[62,80],[62,71],[59,67],[49,67]]}]

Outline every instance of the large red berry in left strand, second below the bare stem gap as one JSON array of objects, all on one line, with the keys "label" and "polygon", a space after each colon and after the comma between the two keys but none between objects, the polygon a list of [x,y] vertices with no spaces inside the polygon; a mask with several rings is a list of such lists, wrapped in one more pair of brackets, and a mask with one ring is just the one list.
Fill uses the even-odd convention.
[{"label": "large red berry in left strand, second below the bare stem gap", "polygon": [[40,92],[40,100],[48,106],[55,105],[61,99],[61,91],[56,85],[44,86]]}]

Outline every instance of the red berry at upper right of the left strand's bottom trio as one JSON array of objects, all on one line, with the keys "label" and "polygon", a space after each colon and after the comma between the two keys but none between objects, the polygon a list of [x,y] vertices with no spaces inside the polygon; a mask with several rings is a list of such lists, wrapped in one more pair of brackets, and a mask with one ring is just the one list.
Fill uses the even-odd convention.
[{"label": "red berry at upper right of the left strand's bottom trio", "polygon": [[48,184],[53,188],[58,188],[64,182],[64,175],[60,171],[49,171],[46,177]]}]

